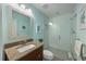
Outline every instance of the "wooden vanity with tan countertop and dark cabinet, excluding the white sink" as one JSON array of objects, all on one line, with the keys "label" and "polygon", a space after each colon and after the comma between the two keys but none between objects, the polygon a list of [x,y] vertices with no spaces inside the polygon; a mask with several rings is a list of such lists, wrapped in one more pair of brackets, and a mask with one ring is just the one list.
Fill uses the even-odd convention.
[{"label": "wooden vanity with tan countertop and dark cabinet, excluding the white sink", "polygon": [[[27,46],[35,44],[35,48],[30,49],[30,51],[25,51],[20,53],[15,47],[17,46]],[[42,50],[44,43],[27,40],[27,42],[23,42],[23,40],[12,43],[4,44],[4,61],[42,61]]]}]

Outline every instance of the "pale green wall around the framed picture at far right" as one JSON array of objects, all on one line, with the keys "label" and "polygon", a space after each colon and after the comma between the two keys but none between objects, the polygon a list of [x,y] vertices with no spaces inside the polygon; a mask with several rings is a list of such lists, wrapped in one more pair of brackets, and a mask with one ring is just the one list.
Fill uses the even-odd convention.
[{"label": "pale green wall around the framed picture at far right", "polygon": [[[85,7],[85,8],[84,8]],[[82,13],[82,9],[85,9],[86,11],[86,4],[77,4],[77,37],[81,39],[81,41],[83,41],[84,43],[86,43],[86,29],[85,30],[82,30],[81,29],[81,13]],[[86,14],[85,14],[86,16]],[[86,18],[85,18],[86,21]]]}]

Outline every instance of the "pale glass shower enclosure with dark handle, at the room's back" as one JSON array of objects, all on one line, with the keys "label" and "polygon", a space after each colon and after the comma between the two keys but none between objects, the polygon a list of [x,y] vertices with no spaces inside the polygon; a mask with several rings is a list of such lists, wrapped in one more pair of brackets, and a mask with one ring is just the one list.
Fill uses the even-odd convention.
[{"label": "pale glass shower enclosure with dark handle, at the room's back", "polygon": [[49,46],[63,51],[71,50],[71,23],[70,15],[52,18],[49,26]]}]

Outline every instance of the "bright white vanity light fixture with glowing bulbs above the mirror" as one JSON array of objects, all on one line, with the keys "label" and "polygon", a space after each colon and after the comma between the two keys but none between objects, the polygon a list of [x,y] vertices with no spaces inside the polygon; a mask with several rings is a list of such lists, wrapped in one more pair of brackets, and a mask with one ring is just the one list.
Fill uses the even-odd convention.
[{"label": "bright white vanity light fixture with glowing bulbs above the mirror", "polygon": [[11,7],[12,10],[14,10],[14,11],[21,13],[21,14],[34,17],[32,9],[26,8],[25,4],[12,3],[12,4],[9,4],[9,5]]}]

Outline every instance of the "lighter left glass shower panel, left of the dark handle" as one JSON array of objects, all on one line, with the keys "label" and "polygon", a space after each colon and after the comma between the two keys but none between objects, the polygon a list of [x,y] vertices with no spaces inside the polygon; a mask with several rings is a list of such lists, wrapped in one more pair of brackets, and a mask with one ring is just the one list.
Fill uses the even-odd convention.
[{"label": "lighter left glass shower panel, left of the dark handle", "polygon": [[52,25],[49,25],[49,46],[52,48],[59,48],[60,43],[60,24],[57,20],[52,20]]}]

